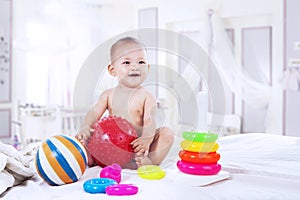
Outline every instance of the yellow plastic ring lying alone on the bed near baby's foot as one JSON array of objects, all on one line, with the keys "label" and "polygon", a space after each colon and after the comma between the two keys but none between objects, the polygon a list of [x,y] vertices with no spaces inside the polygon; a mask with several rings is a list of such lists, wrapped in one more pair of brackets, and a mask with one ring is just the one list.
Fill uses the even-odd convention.
[{"label": "yellow plastic ring lying alone on the bed near baby's foot", "polygon": [[157,165],[144,165],[138,168],[138,175],[149,180],[158,180],[165,177],[166,172]]}]

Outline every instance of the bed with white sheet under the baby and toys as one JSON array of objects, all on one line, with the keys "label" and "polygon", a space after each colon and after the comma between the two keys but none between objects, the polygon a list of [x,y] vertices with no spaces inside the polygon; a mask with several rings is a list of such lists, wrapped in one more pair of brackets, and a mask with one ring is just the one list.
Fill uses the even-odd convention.
[{"label": "bed with white sheet under the baby and toys", "polygon": [[[178,142],[178,141],[177,141]],[[31,199],[300,199],[300,138],[266,133],[247,133],[220,137],[219,163],[225,176],[203,183],[205,177],[183,175],[176,168],[176,141],[162,163],[166,171],[161,180],[145,180],[135,170],[122,171],[122,183],[139,187],[134,196],[89,194],[82,185],[98,177],[100,167],[88,168],[81,179],[62,186],[49,186],[35,176],[6,190],[0,197]],[[227,176],[228,175],[228,176]],[[189,181],[191,180],[191,181]],[[205,181],[204,181],[205,182]]]}]

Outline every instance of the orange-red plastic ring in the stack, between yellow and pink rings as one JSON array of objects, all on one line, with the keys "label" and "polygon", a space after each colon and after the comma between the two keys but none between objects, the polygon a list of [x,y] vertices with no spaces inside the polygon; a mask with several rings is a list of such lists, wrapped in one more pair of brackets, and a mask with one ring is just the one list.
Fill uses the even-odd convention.
[{"label": "orange-red plastic ring in the stack, between yellow and pink rings", "polygon": [[220,160],[220,154],[217,152],[203,153],[181,150],[178,155],[182,161],[198,164],[212,164]]}]

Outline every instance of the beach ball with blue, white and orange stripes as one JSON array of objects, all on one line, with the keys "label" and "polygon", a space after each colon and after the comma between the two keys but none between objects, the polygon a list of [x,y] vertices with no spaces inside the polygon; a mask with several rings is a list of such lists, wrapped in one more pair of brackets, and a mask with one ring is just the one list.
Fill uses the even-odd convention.
[{"label": "beach ball with blue, white and orange stripes", "polygon": [[57,135],[44,141],[36,154],[39,176],[49,185],[76,182],[87,166],[87,154],[75,138]]}]

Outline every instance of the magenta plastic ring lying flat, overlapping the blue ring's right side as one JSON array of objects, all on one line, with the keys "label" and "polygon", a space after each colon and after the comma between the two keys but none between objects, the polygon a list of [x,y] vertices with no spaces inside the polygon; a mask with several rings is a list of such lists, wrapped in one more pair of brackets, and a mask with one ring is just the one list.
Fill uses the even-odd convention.
[{"label": "magenta plastic ring lying flat, overlapping the blue ring's right side", "polygon": [[114,196],[135,195],[138,192],[138,187],[131,184],[111,185],[106,188],[106,194]]}]

